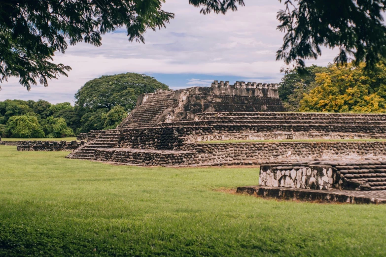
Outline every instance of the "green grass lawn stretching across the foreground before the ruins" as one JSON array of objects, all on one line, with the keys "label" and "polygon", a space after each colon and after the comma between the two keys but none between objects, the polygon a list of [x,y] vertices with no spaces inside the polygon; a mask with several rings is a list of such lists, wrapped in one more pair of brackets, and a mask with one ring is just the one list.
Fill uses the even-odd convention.
[{"label": "green grass lawn stretching across the foreground before the ruins", "polygon": [[0,256],[386,256],[386,205],[219,192],[257,168],[142,168],[0,146]]}]

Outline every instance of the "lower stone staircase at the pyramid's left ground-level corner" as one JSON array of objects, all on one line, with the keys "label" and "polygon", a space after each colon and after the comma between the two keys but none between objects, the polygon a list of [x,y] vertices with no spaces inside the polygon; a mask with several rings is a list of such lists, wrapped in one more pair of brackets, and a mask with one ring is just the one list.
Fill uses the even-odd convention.
[{"label": "lower stone staircase at the pyramid's left ground-level corner", "polygon": [[124,134],[119,133],[119,131],[105,130],[103,135],[88,141],[83,146],[70,153],[66,158],[95,160],[95,152],[97,149],[117,148],[123,139]]}]

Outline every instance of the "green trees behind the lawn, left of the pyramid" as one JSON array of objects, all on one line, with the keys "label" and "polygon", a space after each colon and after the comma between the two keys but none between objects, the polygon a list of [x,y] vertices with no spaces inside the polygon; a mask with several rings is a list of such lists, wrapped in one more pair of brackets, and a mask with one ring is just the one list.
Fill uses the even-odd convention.
[{"label": "green trees behind the lawn, left of the pyramid", "polygon": [[69,102],[5,100],[0,102],[0,136],[58,138],[116,128],[140,94],[157,89],[168,86],[144,74],[126,73],[88,81],[75,94],[74,106]]}]

